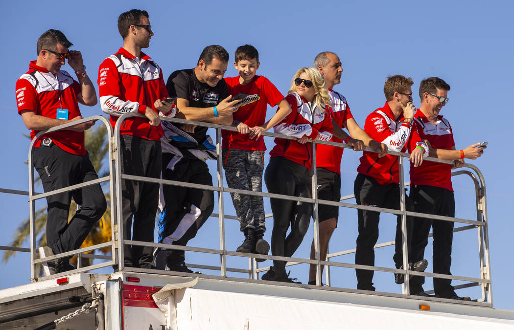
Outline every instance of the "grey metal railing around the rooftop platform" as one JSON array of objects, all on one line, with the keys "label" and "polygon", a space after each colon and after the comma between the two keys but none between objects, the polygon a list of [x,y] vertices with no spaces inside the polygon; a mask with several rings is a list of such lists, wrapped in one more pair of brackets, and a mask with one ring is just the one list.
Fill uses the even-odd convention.
[{"label": "grey metal railing around the rooftop platform", "polygon": [[[163,275],[184,275],[183,273],[179,273],[176,271],[168,271],[168,270],[159,270],[159,269],[141,269],[141,268],[133,268],[133,267],[125,267],[123,264],[123,248],[124,244],[130,244],[130,245],[138,245],[138,246],[152,246],[154,248],[167,248],[172,250],[183,250],[183,251],[194,251],[198,253],[207,253],[207,254],[214,254],[219,256],[219,266],[212,266],[212,265],[193,265],[188,264],[190,267],[195,268],[201,268],[201,269],[210,269],[210,270],[219,270],[219,276],[217,275],[199,275],[200,277],[206,277],[206,278],[222,278],[226,280],[242,280],[240,278],[232,278],[227,276],[227,272],[234,272],[234,273],[243,273],[248,274],[249,280],[256,280],[258,279],[258,274],[261,271],[267,270],[269,267],[259,268],[258,263],[255,261],[255,258],[266,258],[268,260],[281,260],[286,261],[287,266],[298,264],[298,263],[305,263],[305,264],[315,264],[317,268],[317,276],[316,276],[316,283],[317,285],[321,284],[321,265],[324,265],[325,272],[326,272],[326,279],[327,284],[330,285],[330,267],[344,267],[344,268],[356,268],[356,269],[366,269],[366,270],[376,270],[376,271],[385,271],[388,273],[396,273],[396,274],[403,274],[405,278],[405,283],[402,284],[402,297],[408,297],[409,295],[409,276],[411,275],[417,275],[417,276],[425,276],[425,277],[434,277],[434,278],[445,278],[445,279],[454,279],[454,280],[461,280],[469,282],[467,284],[463,285],[457,285],[455,288],[462,288],[462,287],[469,287],[469,286],[475,286],[475,285],[481,285],[482,286],[482,297],[477,299],[477,302],[462,302],[462,303],[478,303],[478,302],[488,302],[488,303],[480,303],[481,306],[492,306],[492,290],[491,290],[491,269],[490,269],[490,257],[489,257],[489,241],[488,241],[488,232],[487,232],[487,207],[486,207],[486,193],[485,193],[485,180],[480,172],[480,170],[471,164],[464,164],[465,167],[472,169],[475,173],[473,174],[470,171],[467,170],[460,170],[453,172],[452,175],[457,174],[467,174],[471,177],[473,180],[474,186],[475,186],[475,196],[476,196],[476,216],[477,220],[469,220],[469,219],[460,219],[460,218],[451,218],[451,217],[443,217],[443,216],[435,216],[435,215],[429,215],[426,213],[418,213],[418,212],[411,212],[407,211],[405,208],[405,194],[400,194],[400,209],[389,209],[389,208],[381,208],[381,207],[373,207],[373,206],[365,206],[365,205],[356,205],[351,203],[345,203],[345,202],[333,202],[333,201],[326,201],[326,200],[319,200],[317,196],[317,173],[316,173],[316,144],[326,144],[326,145],[333,145],[337,147],[342,148],[352,148],[351,146],[348,146],[346,144],[336,143],[336,142],[322,142],[322,141],[314,141],[312,143],[313,146],[313,154],[312,154],[312,160],[313,160],[313,176],[311,178],[311,183],[313,185],[313,197],[312,198],[302,198],[302,197],[295,197],[295,196],[285,196],[285,195],[278,195],[274,193],[268,193],[268,192],[256,192],[256,191],[249,191],[249,190],[242,190],[242,189],[232,189],[225,187],[223,184],[223,166],[222,166],[222,159],[221,157],[217,157],[217,185],[201,185],[201,184],[192,184],[187,182],[180,182],[180,181],[172,181],[172,180],[163,180],[163,179],[153,179],[153,178],[145,178],[145,177],[138,177],[138,176],[132,176],[128,174],[121,173],[121,167],[115,166],[115,164],[120,164],[121,162],[121,150],[119,149],[120,145],[120,134],[119,134],[119,128],[120,124],[123,122],[124,119],[128,117],[144,117],[142,114],[138,113],[125,113],[123,114],[117,121],[117,125],[115,126],[114,131],[111,129],[111,126],[101,116],[94,116],[90,117],[88,119],[84,119],[82,121],[77,121],[72,123],[73,125],[79,124],[82,122],[89,121],[91,119],[101,119],[102,122],[106,125],[108,132],[109,132],[109,177],[101,178],[94,181],[89,181],[87,183],[79,184],[70,186],[67,188],[58,189],[52,192],[46,192],[44,194],[38,194],[36,195],[33,191],[33,170],[32,170],[32,161],[31,161],[31,153],[29,153],[29,180],[30,180],[30,191],[29,191],[29,198],[30,198],[30,217],[31,217],[31,268],[32,268],[32,278],[35,278],[34,270],[35,270],[35,264],[41,263],[47,260],[52,260],[56,258],[62,258],[65,256],[71,256],[83,253],[85,251],[91,251],[97,248],[105,247],[105,246],[111,246],[111,249],[113,251],[112,258],[108,262],[103,262],[100,264],[83,267],[80,269],[77,269],[76,271],[87,271],[91,269],[101,268],[108,265],[118,265],[118,268],[120,270],[130,270],[130,271],[144,271],[145,273],[153,273],[153,274],[163,274]],[[193,124],[197,126],[204,126],[209,128],[214,128],[216,130],[216,151],[218,155],[221,155],[221,130],[231,130],[231,131],[237,131],[236,128],[232,126],[225,126],[225,125],[218,125],[218,124],[210,124],[210,123],[204,123],[204,122],[193,122],[193,121],[186,121],[182,119],[177,118],[162,118],[164,121],[170,121],[173,123],[178,124]],[[58,129],[64,129],[66,127],[71,126],[71,124],[66,125],[60,125],[57,127],[54,127],[50,130],[47,130],[46,132],[55,131]],[[30,150],[32,150],[32,146],[35,143],[35,141],[45,132],[40,132],[34,140],[32,141],[32,144],[30,146]],[[282,138],[282,139],[289,139],[289,140],[296,140],[295,138],[287,137],[282,134],[277,133],[271,133],[266,132],[263,135],[267,137],[275,137],[275,138]],[[375,152],[371,148],[366,148],[368,151]],[[403,179],[403,158],[409,157],[409,154],[407,153],[400,153],[400,152],[394,152],[389,151],[389,154],[392,154],[393,156],[398,157],[398,166],[399,166],[399,178],[400,178],[400,191],[403,191],[403,187],[408,185]],[[446,161],[446,160],[439,160],[435,158],[425,158],[424,161],[433,161],[437,163],[446,163],[446,164],[453,164],[452,161]],[[111,182],[111,192],[115,191],[115,194],[112,195],[111,198],[111,210],[112,210],[112,241],[105,242],[102,244],[97,244],[95,246],[90,246],[87,248],[82,248],[74,251],[69,251],[68,253],[59,254],[56,256],[53,256],[52,258],[39,258],[35,259],[35,237],[33,235],[33,218],[34,218],[34,202],[37,199],[41,199],[43,197],[53,195],[54,193],[59,193],[62,191],[68,191],[68,190],[74,190],[77,188],[81,188],[83,186],[89,185],[89,184],[96,184],[104,181],[108,181],[110,179]],[[218,213],[212,213],[211,217],[217,217],[219,220],[219,249],[212,249],[212,248],[204,248],[204,247],[193,247],[193,246],[179,246],[179,245],[170,245],[170,244],[162,244],[162,243],[149,243],[149,242],[141,242],[141,241],[133,241],[133,240],[123,240],[123,226],[118,225],[120,219],[122,219],[122,207],[119,205],[121,201],[121,180],[137,180],[137,181],[143,181],[143,182],[153,182],[153,183],[161,183],[166,185],[174,185],[174,186],[184,186],[184,187],[190,187],[190,188],[198,188],[198,189],[206,189],[206,190],[212,190],[218,192]],[[287,257],[280,257],[280,256],[261,256],[256,254],[249,254],[249,253],[238,253],[236,251],[229,251],[226,250],[226,235],[225,235],[225,219],[237,219],[234,216],[226,216],[224,212],[224,193],[225,192],[236,192],[241,193],[244,195],[250,195],[250,196],[261,196],[266,198],[277,198],[277,199],[286,199],[286,200],[292,200],[292,201],[300,201],[300,202],[307,202],[307,203],[313,203],[314,204],[314,211],[313,211],[313,218],[314,218],[314,246],[315,246],[315,259],[305,259],[305,258],[287,258]],[[347,200],[353,198],[353,195],[344,196],[341,198],[341,200]],[[326,260],[320,260],[319,257],[319,219],[318,219],[318,205],[334,205],[338,207],[345,207],[345,208],[352,208],[352,209],[362,209],[362,210],[371,210],[371,211],[378,211],[378,212],[385,212],[390,213],[393,215],[401,215],[402,217],[402,237],[403,237],[403,269],[395,269],[395,268],[387,268],[387,267],[375,267],[375,266],[367,266],[367,265],[360,265],[360,264],[350,264],[350,263],[341,263],[341,262],[334,262],[330,261],[330,259],[355,253],[355,249],[350,249],[346,251],[340,251],[337,253],[327,254]],[[269,218],[272,215],[266,215],[267,218]],[[413,217],[420,217],[420,218],[430,218],[430,219],[437,219],[437,220],[443,220],[443,221],[452,221],[452,222],[458,222],[458,223],[465,223],[468,224],[468,226],[464,227],[458,227],[454,229],[454,232],[457,231],[463,231],[468,230],[472,228],[478,229],[478,236],[479,236],[479,262],[480,262],[480,274],[481,278],[473,278],[473,277],[464,277],[464,276],[450,276],[445,274],[435,274],[435,273],[425,273],[425,272],[419,272],[419,271],[413,271],[410,270],[409,267],[406,267],[408,264],[408,250],[407,250],[407,242],[406,242],[406,217],[407,216],[413,216]],[[383,246],[389,246],[392,245],[393,242],[386,242],[386,243],[379,243],[375,245],[375,248],[383,247]],[[248,258],[248,268],[235,268],[235,267],[228,267],[227,266],[227,256],[236,256],[236,257],[244,257]],[[68,272],[69,273],[69,272]],[[62,274],[61,274],[62,275]],[[56,277],[59,275],[54,275],[52,277]],[[280,283],[283,285],[291,285],[291,284],[285,284]],[[295,284],[293,284],[295,285]],[[328,289],[336,289],[335,287],[329,287]],[[359,290],[360,291],[360,290]],[[376,293],[384,295],[384,293]],[[385,295],[392,295],[397,296],[396,294],[388,294]],[[434,298],[435,299],[435,298]]]}]

